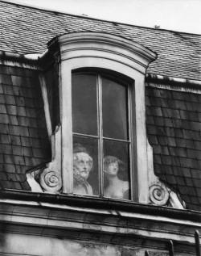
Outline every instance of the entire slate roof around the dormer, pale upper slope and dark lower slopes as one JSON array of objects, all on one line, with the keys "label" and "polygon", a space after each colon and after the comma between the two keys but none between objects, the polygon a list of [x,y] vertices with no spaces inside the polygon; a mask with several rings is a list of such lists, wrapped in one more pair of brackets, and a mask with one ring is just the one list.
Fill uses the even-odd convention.
[{"label": "entire slate roof around the dormer, pale upper slope and dark lower slopes", "polygon": [[[1,1],[0,20],[2,51],[44,52],[54,36],[73,31],[104,31],[157,52],[158,59],[150,64],[148,73],[201,80],[199,35]],[[51,80],[48,85],[53,82],[49,75],[47,79]],[[201,94],[146,86],[146,126],[154,149],[155,173],[179,191],[187,208],[201,211]],[[0,187],[30,190],[25,172],[50,161],[50,149],[37,71],[0,65]]]}]

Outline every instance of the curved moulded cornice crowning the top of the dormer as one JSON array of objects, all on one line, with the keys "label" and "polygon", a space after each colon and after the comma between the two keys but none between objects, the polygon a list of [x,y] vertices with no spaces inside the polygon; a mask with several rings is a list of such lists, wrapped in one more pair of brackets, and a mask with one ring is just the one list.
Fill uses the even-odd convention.
[{"label": "curved moulded cornice crowning the top of the dormer", "polygon": [[157,54],[149,48],[138,44],[133,40],[127,40],[121,36],[113,36],[100,32],[75,32],[57,36],[48,44],[48,48],[55,52],[59,50],[61,55],[64,52],[72,51],[96,51],[116,54],[146,67],[154,61]]}]

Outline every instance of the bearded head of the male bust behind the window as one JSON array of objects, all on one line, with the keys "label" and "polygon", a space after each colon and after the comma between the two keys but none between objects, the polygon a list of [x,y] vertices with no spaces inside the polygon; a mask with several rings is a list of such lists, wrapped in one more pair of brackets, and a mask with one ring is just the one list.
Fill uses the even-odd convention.
[{"label": "bearded head of the male bust behind the window", "polygon": [[84,183],[92,170],[93,161],[84,146],[75,144],[73,149],[73,178],[76,183]]}]

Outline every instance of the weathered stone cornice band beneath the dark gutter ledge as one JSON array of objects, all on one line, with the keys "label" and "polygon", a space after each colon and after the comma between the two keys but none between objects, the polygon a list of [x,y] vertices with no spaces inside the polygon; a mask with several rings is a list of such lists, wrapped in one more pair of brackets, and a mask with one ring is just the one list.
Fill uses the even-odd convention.
[{"label": "weathered stone cornice band beneath the dark gutter ledge", "polygon": [[[201,229],[200,223],[193,221],[178,221],[160,216],[153,217],[147,213],[128,213],[117,210],[105,210],[96,208],[79,208],[67,204],[51,204],[24,202],[20,200],[0,200],[0,221],[9,225],[29,226],[24,233],[35,235],[66,236],[73,231],[80,233],[100,233],[102,235],[115,234],[116,236],[136,236],[141,239],[158,239],[158,241],[173,240],[178,243],[195,243],[195,229]],[[15,233],[22,233],[23,229],[15,229]],[[20,231],[21,230],[21,231]],[[55,231],[54,231],[55,230]],[[32,233],[33,234],[33,233]]]}]

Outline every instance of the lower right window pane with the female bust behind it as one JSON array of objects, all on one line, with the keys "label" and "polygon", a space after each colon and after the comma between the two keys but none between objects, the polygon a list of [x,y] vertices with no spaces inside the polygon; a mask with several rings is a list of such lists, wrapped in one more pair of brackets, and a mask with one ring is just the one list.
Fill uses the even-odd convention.
[{"label": "lower right window pane with the female bust behind it", "polygon": [[104,196],[130,199],[129,143],[104,141]]}]

